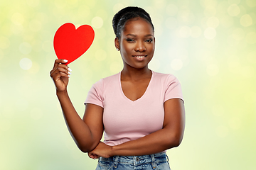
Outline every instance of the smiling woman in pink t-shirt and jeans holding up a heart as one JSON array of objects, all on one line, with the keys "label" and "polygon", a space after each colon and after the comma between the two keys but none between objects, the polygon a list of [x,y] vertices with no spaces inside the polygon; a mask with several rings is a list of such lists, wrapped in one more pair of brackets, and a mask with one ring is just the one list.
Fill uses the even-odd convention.
[{"label": "smiling woman in pink t-shirt and jeans holding up a heart", "polygon": [[82,152],[100,158],[97,169],[170,169],[166,149],[180,145],[185,124],[181,84],[148,68],[155,38],[144,9],[123,8],[113,28],[124,67],[92,86],[82,119],[68,97],[67,61],[55,60],[50,72],[70,134]]}]

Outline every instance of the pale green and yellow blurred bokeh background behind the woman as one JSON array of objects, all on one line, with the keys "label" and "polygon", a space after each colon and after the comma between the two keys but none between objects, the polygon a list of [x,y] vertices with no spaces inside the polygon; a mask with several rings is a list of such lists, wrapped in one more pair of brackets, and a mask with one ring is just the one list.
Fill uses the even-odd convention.
[{"label": "pale green and yellow blurred bokeh background behind the woman", "polygon": [[255,0],[9,0],[0,2],[0,169],[95,169],[65,126],[49,77],[53,36],[89,24],[90,49],[68,91],[82,117],[95,81],[122,70],[112,17],[140,6],[155,26],[149,67],[181,81],[186,130],[169,149],[171,169],[256,169]]}]

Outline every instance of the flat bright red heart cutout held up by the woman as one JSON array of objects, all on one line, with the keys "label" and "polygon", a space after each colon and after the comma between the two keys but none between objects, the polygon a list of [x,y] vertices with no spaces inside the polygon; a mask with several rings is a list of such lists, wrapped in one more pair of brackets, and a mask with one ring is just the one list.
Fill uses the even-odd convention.
[{"label": "flat bright red heart cutout held up by the woman", "polygon": [[75,29],[73,23],[65,23],[54,35],[53,47],[58,59],[68,60],[66,65],[85,53],[95,37],[91,26],[82,25]]}]

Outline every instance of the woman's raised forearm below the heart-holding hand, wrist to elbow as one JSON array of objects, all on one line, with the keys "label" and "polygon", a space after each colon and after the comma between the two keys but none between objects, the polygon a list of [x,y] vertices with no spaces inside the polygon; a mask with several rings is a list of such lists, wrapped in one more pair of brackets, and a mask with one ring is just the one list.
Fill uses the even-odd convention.
[{"label": "woman's raised forearm below the heart-holding hand, wrist to elbow", "polygon": [[75,108],[68,96],[68,92],[63,91],[57,92],[56,94],[60,101],[60,106],[70,135],[73,137],[73,140],[82,152],[90,152],[97,146],[90,128],[75,111]]}]

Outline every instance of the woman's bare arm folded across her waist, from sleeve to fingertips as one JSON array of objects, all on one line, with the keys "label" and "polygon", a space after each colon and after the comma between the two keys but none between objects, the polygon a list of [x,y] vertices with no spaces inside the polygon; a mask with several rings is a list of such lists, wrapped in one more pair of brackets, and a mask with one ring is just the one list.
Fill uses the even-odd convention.
[{"label": "woman's bare arm folded across her waist, from sleeve to fingertips", "polygon": [[161,130],[114,147],[100,143],[90,154],[112,157],[114,155],[131,156],[163,152],[166,149],[180,145],[184,126],[185,109],[183,101],[177,98],[170,99],[164,103],[164,125]]}]

